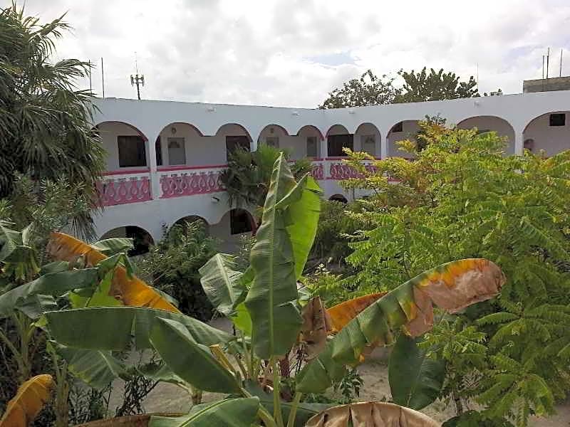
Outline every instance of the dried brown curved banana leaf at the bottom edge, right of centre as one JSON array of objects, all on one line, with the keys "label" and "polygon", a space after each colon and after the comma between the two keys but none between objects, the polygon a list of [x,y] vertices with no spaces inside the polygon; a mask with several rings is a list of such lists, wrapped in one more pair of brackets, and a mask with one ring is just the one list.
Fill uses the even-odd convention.
[{"label": "dried brown curved banana leaf at the bottom edge, right of centre", "polygon": [[335,406],[317,413],[306,427],[440,427],[427,415],[410,408],[384,402],[363,402]]}]

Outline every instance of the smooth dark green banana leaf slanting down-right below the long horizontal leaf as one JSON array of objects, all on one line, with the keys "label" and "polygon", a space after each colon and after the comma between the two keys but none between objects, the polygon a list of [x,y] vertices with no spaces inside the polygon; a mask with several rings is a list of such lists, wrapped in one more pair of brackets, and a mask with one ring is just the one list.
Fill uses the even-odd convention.
[{"label": "smooth dark green banana leaf slanting down-right below the long horizontal leaf", "polygon": [[238,393],[236,377],[198,344],[185,325],[175,320],[156,319],[150,342],[172,372],[199,390]]}]

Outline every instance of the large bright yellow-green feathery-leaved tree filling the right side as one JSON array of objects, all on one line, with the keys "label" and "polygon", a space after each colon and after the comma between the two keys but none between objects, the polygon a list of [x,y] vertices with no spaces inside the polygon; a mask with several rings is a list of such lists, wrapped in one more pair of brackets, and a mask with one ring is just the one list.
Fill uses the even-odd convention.
[{"label": "large bright yellow-green feathery-leaved tree filling the right side", "polygon": [[[401,143],[414,162],[378,161],[375,173],[363,169],[345,183],[375,194],[375,209],[361,214],[375,226],[357,234],[348,263],[362,294],[453,259],[497,263],[507,277],[501,297],[445,320],[427,342],[448,362],[444,394],[479,399],[492,418],[514,416],[524,426],[570,389],[570,152],[505,157],[494,132],[421,127],[423,150]],[[351,157],[358,167],[358,154]]]}]

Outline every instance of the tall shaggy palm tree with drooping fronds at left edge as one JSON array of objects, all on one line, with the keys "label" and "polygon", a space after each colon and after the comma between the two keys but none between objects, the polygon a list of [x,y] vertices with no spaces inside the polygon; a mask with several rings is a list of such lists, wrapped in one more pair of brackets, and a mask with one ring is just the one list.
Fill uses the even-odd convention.
[{"label": "tall shaggy palm tree with drooping fronds at left edge", "polygon": [[[0,9],[0,28],[0,197],[25,174],[82,184],[93,200],[105,151],[91,126],[92,94],[76,87],[90,65],[50,60],[68,24],[63,16],[40,23],[13,3]],[[89,214],[79,222],[88,231]]]}]

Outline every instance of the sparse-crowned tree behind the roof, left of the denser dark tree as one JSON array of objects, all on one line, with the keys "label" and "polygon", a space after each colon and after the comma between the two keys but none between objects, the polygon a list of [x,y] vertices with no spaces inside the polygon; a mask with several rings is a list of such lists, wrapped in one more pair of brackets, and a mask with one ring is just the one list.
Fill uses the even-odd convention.
[{"label": "sparse-crowned tree behind the roof, left of the denser dark tree", "polygon": [[318,107],[324,109],[391,104],[400,95],[400,90],[395,88],[393,81],[394,78],[387,75],[379,78],[372,70],[367,70],[360,78],[353,78],[343,83],[342,88],[335,88]]}]

